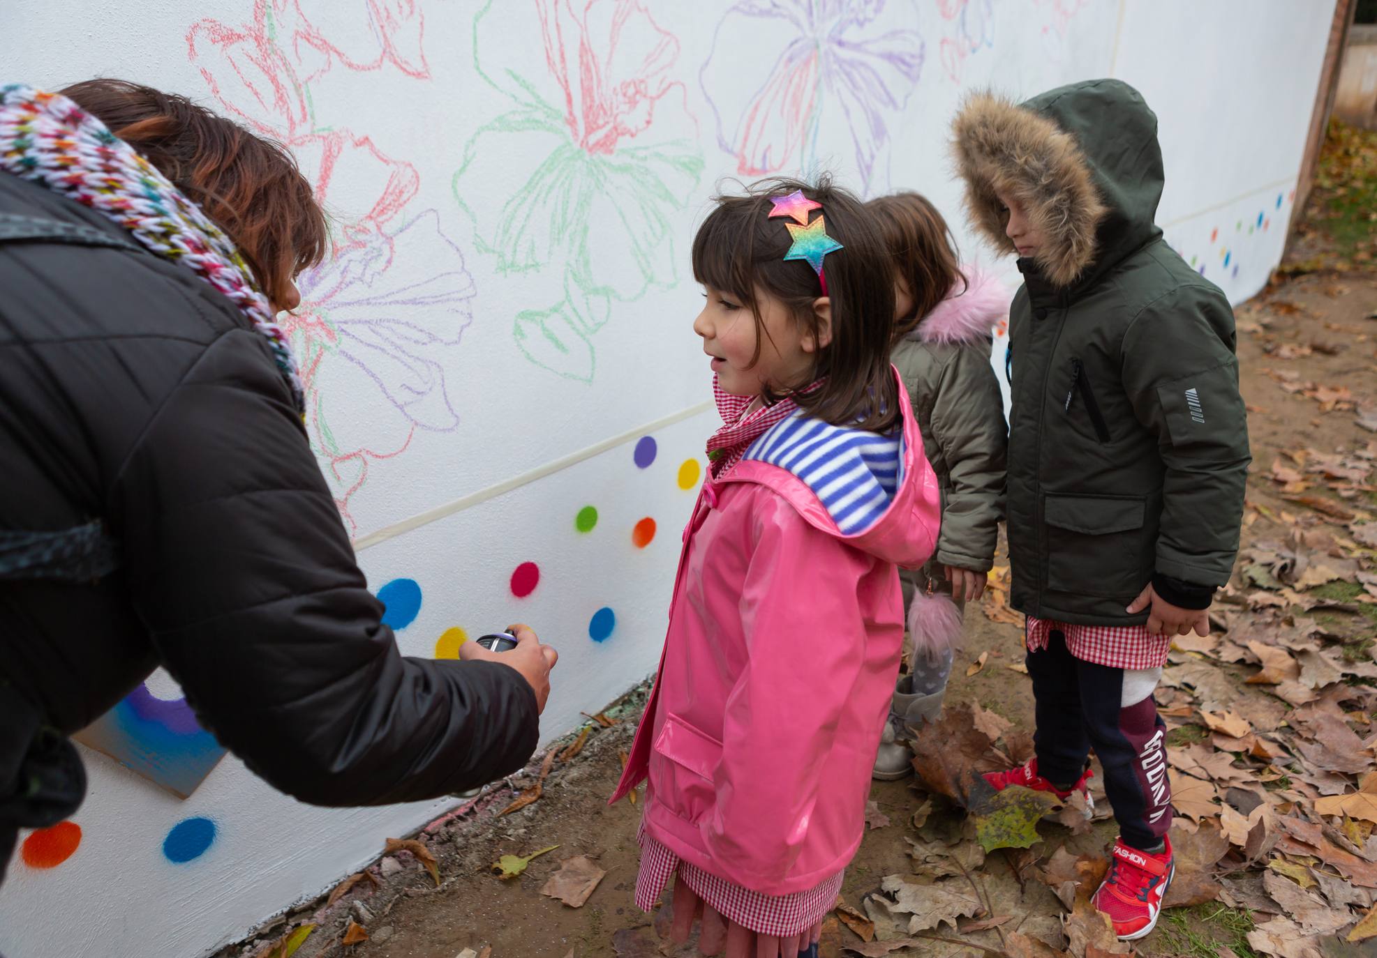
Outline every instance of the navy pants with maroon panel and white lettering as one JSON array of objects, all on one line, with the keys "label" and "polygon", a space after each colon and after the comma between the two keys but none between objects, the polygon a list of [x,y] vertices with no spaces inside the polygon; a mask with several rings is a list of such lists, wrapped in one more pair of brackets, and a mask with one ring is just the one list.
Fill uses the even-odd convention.
[{"label": "navy pants with maroon panel and white lettering", "polygon": [[1125,707],[1124,669],[1075,658],[1060,632],[1026,661],[1037,702],[1038,774],[1056,785],[1075,782],[1093,747],[1124,844],[1140,851],[1161,845],[1172,827],[1172,786],[1157,702],[1148,695]]}]

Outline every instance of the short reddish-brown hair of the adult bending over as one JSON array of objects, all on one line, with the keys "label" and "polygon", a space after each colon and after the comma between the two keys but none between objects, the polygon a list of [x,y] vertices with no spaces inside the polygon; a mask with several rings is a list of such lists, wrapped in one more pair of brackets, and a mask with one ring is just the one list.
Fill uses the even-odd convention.
[{"label": "short reddish-brown hair of the adult bending over", "polygon": [[280,143],[255,136],[186,96],[124,80],[61,91],[138,150],[238,246],[267,297],[329,249],[325,211]]}]

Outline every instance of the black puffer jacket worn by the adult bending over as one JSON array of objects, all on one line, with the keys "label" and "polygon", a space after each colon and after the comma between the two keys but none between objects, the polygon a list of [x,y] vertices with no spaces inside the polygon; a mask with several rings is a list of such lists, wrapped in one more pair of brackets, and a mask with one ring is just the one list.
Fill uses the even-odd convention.
[{"label": "black puffer jacket worn by the adult bending over", "polygon": [[[0,212],[128,238],[6,173]],[[50,242],[0,244],[0,530],[102,519],[123,553],[95,584],[0,577],[0,696],[70,734],[161,663],[226,747],[318,805],[443,796],[530,757],[521,674],[398,654],[227,299],[150,253]],[[17,735],[0,727],[0,779]]]}]

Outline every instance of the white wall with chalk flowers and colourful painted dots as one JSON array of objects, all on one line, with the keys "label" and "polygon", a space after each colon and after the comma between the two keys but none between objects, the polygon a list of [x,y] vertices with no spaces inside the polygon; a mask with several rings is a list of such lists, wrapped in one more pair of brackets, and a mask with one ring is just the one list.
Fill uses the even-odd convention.
[{"label": "white wall with chalk flowers and colourful painted dots", "polygon": [[[654,668],[693,496],[677,475],[701,461],[715,421],[701,409],[687,248],[722,178],[828,168],[869,194],[923,190],[967,259],[993,264],[1012,292],[1012,263],[961,222],[950,114],[976,87],[1026,96],[1117,76],[1161,118],[1168,240],[1241,300],[1281,255],[1332,11],[1286,0],[48,0],[0,8],[0,80],[128,77],[292,146],[343,226],[337,260],[303,284],[296,341],[319,361],[313,436],[369,581],[419,584],[419,614],[398,632],[409,654],[434,655],[454,626],[540,628],[563,655],[544,724],[554,736]],[[551,66],[560,51],[547,34],[563,37],[567,67]],[[850,59],[834,59],[841,50]],[[598,65],[595,92],[578,84],[581,55]],[[850,85],[859,76],[873,85]],[[737,135],[742,117],[759,121],[750,136]],[[636,440],[650,434],[658,451],[639,468]],[[610,447],[474,496],[599,443]],[[578,533],[585,505],[599,522]],[[643,518],[658,534],[638,548]],[[525,562],[541,577],[518,599],[509,578]],[[617,625],[599,643],[589,622],[603,607]],[[183,801],[85,758],[80,845],[55,867],[17,860],[0,889],[11,958],[204,954],[446,807],[308,808],[233,757]],[[174,863],[164,842],[189,818],[212,822],[215,837]]]}]

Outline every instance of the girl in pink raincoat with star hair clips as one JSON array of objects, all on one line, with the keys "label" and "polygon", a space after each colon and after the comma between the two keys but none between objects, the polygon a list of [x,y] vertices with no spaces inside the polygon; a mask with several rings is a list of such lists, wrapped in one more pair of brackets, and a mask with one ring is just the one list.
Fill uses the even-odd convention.
[{"label": "girl in pink raincoat with star hair clips", "polygon": [[939,491],[890,365],[894,284],[845,190],[770,180],[698,230],[694,321],[723,425],[708,440],[654,691],[613,801],[649,779],[636,903],[675,878],[673,932],[815,954],[861,845],[899,668],[899,566]]}]

